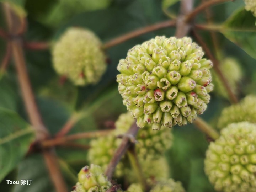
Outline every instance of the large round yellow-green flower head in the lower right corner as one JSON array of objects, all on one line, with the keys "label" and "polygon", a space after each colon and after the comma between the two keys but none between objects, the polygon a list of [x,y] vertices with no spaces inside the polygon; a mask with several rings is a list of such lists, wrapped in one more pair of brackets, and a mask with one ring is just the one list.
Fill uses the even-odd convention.
[{"label": "large round yellow-green flower head in the lower right corner", "polygon": [[256,124],[231,123],[206,151],[204,170],[215,190],[255,192]]}]

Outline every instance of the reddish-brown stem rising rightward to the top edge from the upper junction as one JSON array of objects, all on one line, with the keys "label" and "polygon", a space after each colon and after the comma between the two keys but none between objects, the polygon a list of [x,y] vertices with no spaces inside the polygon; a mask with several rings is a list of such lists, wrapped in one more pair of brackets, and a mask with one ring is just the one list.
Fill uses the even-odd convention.
[{"label": "reddish-brown stem rising rightward to the top edge from the upper junction", "polygon": [[186,16],[186,20],[191,21],[195,16],[197,16],[200,12],[206,10],[208,7],[216,5],[216,4],[228,2],[228,1],[232,1],[232,0],[209,0],[209,1],[205,1],[205,2],[201,3],[198,7],[196,7],[192,12],[190,12],[190,14],[188,14]]}]

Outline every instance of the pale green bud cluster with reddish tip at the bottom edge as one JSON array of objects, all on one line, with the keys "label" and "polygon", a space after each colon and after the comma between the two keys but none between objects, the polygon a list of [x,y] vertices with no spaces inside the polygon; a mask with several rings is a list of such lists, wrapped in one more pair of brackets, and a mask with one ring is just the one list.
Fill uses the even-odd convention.
[{"label": "pale green bud cluster with reddish tip at the bottom edge", "polygon": [[80,170],[78,181],[73,192],[106,192],[112,187],[101,167],[94,164]]}]

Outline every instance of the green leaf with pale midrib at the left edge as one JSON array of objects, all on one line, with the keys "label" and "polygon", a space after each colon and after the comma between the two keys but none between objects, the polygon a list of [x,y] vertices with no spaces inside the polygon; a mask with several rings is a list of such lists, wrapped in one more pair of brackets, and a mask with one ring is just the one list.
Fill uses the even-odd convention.
[{"label": "green leaf with pale midrib at the left edge", "polygon": [[13,170],[34,140],[34,130],[18,114],[0,108],[0,181]]}]

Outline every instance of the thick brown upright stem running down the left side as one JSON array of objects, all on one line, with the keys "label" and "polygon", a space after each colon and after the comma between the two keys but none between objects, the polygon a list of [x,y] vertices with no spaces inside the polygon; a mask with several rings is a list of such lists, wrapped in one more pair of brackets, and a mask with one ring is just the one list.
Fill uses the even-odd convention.
[{"label": "thick brown upright stem running down the left side", "polygon": [[[12,12],[9,4],[4,4],[4,11],[6,15],[6,21],[8,24],[9,32],[11,36],[15,36],[17,33],[24,31],[25,18],[17,18],[18,16]],[[24,21],[24,22],[22,22]],[[17,36],[10,40],[12,54],[15,61],[15,66],[18,74],[18,80],[21,87],[23,101],[26,106],[30,122],[36,129],[36,136],[38,140],[43,140],[49,137],[48,130],[44,127],[41,116],[39,114],[33,91],[26,70],[25,58],[22,50],[22,39]],[[64,179],[59,170],[59,165],[56,159],[56,155],[53,149],[43,150],[44,160],[54,183],[57,192],[67,192],[67,188]]]}]

